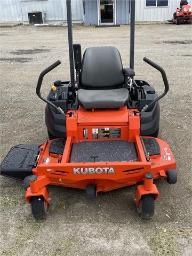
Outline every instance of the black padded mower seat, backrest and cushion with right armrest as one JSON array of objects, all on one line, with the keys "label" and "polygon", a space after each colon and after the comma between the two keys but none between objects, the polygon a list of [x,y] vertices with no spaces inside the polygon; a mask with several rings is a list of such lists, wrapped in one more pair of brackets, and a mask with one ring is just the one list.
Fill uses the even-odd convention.
[{"label": "black padded mower seat, backrest and cushion with right armrest", "polygon": [[82,60],[81,89],[78,103],[85,109],[121,108],[129,100],[125,75],[134,76],[132,69],[123,69],[121,56],[114,46],[86,49]]}]

